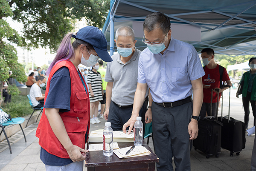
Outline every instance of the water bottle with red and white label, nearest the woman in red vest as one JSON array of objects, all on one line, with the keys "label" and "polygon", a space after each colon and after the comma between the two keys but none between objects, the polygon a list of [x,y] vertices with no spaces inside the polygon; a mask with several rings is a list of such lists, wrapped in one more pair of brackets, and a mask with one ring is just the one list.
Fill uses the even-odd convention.
[{"label": "water bottle with red and white label, nearest the woman in red vest", "polygon": [[103,129],[103,154],[108,157],[113,155],[113,129],[110,122],[106,122]]}]

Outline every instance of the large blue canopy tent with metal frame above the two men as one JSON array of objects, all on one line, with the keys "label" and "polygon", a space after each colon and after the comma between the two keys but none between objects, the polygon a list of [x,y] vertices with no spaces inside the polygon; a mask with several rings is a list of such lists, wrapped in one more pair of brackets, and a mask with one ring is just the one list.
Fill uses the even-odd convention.
[{"label": "large blue canopy tent with metal frame above the two men", "polygon": [[198,52],[209,47],[216,54],[256,54],[256,0],[111,0],[102,29],[111,54],[116,50],[114,33],[121,25],[136,28],[136,47],[143,50],[146,46],[141,42],[141,23],[148,14],[157,11],[169,17],[173,37],[184,29],[181,34],[186,33],[187,40],[175,38],[192,44]]}]

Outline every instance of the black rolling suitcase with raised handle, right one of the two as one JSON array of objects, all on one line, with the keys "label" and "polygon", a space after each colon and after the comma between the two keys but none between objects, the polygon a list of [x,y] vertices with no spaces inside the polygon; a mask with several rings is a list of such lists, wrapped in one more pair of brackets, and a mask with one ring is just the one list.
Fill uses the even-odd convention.
[{"label": "black rolling suitcase with raised handle, right one of the two", "polygon": [[235,120],[230,117],[230,96],[228,107],[228,116],[222,117],[221,109],[221,117],[218,117],[218,121],[223,123],[221,130],[221,148],[230,151],[230,156],[233,156],[234,153],[239,155],[242,149],[245,148],[245,124],[240,120]]}]

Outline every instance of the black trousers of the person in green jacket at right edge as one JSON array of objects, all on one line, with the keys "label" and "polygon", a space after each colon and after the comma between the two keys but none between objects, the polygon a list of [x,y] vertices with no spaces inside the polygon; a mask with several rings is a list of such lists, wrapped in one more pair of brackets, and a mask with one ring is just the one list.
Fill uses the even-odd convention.
[{"label": "black trousers of the person in green jacket at right edge", "polygon": [[249,124],[249,114],[250,114],[250,103],[253,109],[253,116],[254,116],[254,123],[255,125],[255,118],[256,118],[256,105],[254,100],[250,100],[251,93],[247,91],[246,97],[243,97],[243,106],[244,106],[244,123],[245,123],[245,128],[248,128]]}]

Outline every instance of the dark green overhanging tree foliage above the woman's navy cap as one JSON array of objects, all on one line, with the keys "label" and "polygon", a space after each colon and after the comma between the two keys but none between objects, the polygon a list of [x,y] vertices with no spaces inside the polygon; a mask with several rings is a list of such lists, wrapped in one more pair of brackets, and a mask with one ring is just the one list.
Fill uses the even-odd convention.
[{"label": "dark green overhanging tree foliage above the woman's navy cap", "polygon": [[87,24],[102,28],[110,0],[7,0],[13,19],[23,23],[26,47],[58,48],[65,34],[73,29],[73,21],[82,17]]}]

